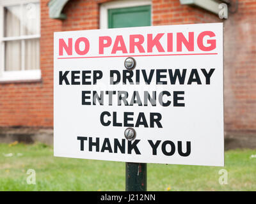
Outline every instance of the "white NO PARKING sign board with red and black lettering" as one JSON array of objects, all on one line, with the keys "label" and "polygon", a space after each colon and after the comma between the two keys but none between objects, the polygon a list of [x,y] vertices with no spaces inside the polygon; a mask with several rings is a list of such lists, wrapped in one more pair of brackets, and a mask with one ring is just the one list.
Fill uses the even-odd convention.
[{"label": "white NO PARKING sign board with red and black lettering", "polygon": [[223,166],[223,140],[222,23],[54,33],[54,156]]}]

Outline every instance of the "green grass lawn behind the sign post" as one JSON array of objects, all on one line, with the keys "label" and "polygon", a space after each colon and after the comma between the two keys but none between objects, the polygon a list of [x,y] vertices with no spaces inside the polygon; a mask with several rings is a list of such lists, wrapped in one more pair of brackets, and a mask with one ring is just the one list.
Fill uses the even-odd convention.
[{"label": "green grass lawn behind the sign post", "polygon": [[[13,156],[4,156],[8,153]],[[222,167],[148,164],[148,191],[256,191],[256,158],[250,158],[255,154],[225,152],[227,185],[218,182]],[[36,185],[27,184],[28,169],[36,171]],[[53,157],[44,144],[0,144],[0,191],[124,190],[125,163]]]}]

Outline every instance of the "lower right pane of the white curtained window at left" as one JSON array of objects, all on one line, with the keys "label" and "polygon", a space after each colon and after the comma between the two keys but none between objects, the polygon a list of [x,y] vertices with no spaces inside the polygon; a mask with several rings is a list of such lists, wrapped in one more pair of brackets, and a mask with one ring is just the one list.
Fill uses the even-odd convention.
[{"label": "lower right pane of the white curtained window at left", "polygon": [[40,41],[39,39],[25,40],[25,69],[39,69]]}]

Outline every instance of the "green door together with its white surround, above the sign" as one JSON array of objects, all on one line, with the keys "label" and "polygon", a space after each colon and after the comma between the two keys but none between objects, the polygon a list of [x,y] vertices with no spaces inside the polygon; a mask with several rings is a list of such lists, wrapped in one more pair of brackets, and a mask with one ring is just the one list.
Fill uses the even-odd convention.
[{"label": "green door together with its white surround, above the sign", "polygon": [[151,25],[151,1],[111,1],[100,6],[100,29]]}]

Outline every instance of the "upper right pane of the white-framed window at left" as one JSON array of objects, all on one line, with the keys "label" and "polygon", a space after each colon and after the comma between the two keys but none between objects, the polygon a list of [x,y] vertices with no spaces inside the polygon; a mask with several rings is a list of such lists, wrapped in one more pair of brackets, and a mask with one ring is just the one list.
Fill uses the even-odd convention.
[{"label": "upper right pane of the white-framed window at left", "polygon": [[29,3],[22,6],[24,20],[23,34],[40,34],[40,6],[39,3]]}]

